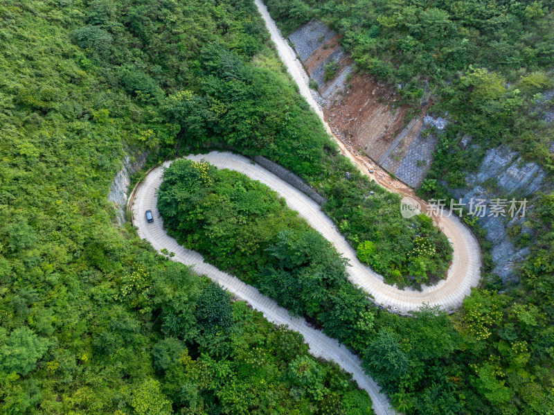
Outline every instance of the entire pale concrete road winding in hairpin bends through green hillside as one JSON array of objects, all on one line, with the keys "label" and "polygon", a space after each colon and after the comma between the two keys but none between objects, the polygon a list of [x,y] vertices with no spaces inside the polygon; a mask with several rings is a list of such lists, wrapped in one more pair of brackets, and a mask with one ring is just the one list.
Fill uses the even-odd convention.
[{"label": "entire pale concrete road winding in hairpin bends through green hillside", "polygon": [[[321,108],[310,92],[301,62],[296,60],[294,51],[280,35],[278,28],[271,17],[269,17],[269,13],[262,1],[255,0],[255,3],[265,20],[271,34],[271,39],[276,44],[281,60],[285,62],[289,73],[298,84],[301,94],[314,108],[316,114],[319,115],[328,132],[332,134],[323,118]],[[341,152],[351,159],[362,173],[372,177],[388,190],[415,198],[413,191],[406,186],[381,179],[380,175],[377,177],[377,175],[369,173],[366,161],[361,159],[359,154],[350,152],[337,137],[334,137],[334,139],[337,140]],[[460,306],[463,298],[470,294],[471,287],[479,283],[481,268],[479,244],[469,229],[456,217],[440,218],[440,220],[437,220],[440,229],[443,230],[454,247],[454,258],[452,265],[449,267],[447,279],[440,281],[440,283],[432,287],[425,287],[421,292],[398,290],[393,286],[386,285],[382,281],[382,276],[359,263],[354,249],[350,247],[348,242],[337,231],[330,218],[321,211],[318,204],[304,193],[301,193],[301,191],[283,182],[283,180],[258,166],[258,164],[237,154],[211,152],[209,154],[189,156],[188,158],[194,160],[205,159],[217,168],[236,170],[251,179],[256,179],[266,184],[283,196],[291,209],[298,211],[310,223],[310,226],[330,240],[337,251],[345,258],[348,258],[351,265],[348,267],[350,281],[372,294],[376,303],[382,304],[389,309],[409,312],[419,308],[424,303],[428,303],[431,306],[438,305],[445,310],[452,310]],[[169,164],[170,161],[166,162],[164,166],[169,166]],[[208,278],[232,292],[238,299],[247,301],[253,308],[262,312],[269,321],[275,324],[287,324],[292,330],[301,333],[305,342],[310,346],[310,353],[323,357],[325,360],[336,362],[342,369],[352,373],[352,378],[358,382],[359,387],[365,389],[372,398],[373,409],[377,415],[393,414],[394,411],[390,408],[388,398],[384,394],[379,393],[379,386],[361,370],[359,358],[350,353],[345,346],[339,344],[337,340],[327,337],[321,331],[308,326],[305,320],[291,317],[287,310],[278,306],[275,301],[260,294],[256,288],[242,283],[236,277],[218,270],[213,265],[205,263],[200,254],[181,247],[175,239],[168,236],[163,229],[163,221],[157,209],[156,191],[161,184],[162,173],[163,169],[161,167],[150,171],[144,181],[136,186],[133,196],[129,199],[134,217],[133,223],[138,228],[139,236],[148,240],[152,244],[152,247],[158,251],[166,248],[169,251],[175,252],[175,257],[172,258],[173,261],[193,266],[195,272],[205,274]],[[425,208],[425,202],[420,201],[420,203]],[[154,214],[153,223],[148,223],[145,219],[144,212],[148,209],[151,209]]]}]

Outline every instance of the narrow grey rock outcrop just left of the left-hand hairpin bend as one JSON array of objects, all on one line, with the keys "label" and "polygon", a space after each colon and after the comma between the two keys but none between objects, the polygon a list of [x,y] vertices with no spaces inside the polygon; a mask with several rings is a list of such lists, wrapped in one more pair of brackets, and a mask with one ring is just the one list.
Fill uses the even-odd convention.
[{"label": "narrow grey rock outcrop just left of the left-hand hairpin bend", "polygon": [[141,170],[148,156],[147,152],[125,154],[123,158],[123,168],[114,177],[114,181],[109,186],[108,200],[114,204],[116,217],[119,224],[127,222],[125,220],[125,209],[127,206],[127,197],[129,196],[129,184],[131,176]]}]

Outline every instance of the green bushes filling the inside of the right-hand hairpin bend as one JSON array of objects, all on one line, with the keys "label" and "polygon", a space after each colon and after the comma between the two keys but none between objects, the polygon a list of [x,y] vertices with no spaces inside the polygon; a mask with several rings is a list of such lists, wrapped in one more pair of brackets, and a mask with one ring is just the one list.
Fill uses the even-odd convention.
[{"label": "green bushes filling the inside of the right-hand hairpin bend", "polygon": [[[323,209],[350,244],[357,247],[359,260],[382,274],[387,283],[400,286],[443,279],[452,258],[452,247],[429,218],[418,215],[404,219],[397,195],[383,192],[365,180],[359,187],[349,184],[344,179],[325,187],[330,198]],[[432,249],[420,251],[421,245]],[[422,261],[426,266],[416,270]],[[406,275],[415,279],[406,281]]]}]

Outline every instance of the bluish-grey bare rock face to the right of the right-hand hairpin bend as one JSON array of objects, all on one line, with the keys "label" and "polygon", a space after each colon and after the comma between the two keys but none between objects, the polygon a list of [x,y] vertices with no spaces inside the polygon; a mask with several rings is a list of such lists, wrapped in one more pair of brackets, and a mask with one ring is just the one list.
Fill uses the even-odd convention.
[{"label": "bluish-grey bare rock face to the right of the right-hand hairpin bend", "polygon": [[[471,137],[465,138],[465,141],[470,143]],[[548,193],[553,189],[542,168],[535,163],[526,163],[519,153],[503,145],[485,153],[479,169],[466,176],[466,185],[466,188],[452,191],[464,203],[469,203],[472,198],[485,199],[488,204],[497,198],[508,201],[512,198],[517,201],[527,199],[527,211],[533,209],[533,197],[537,191]],[[492,272],[501,276],[503,283],[517,282],[514,269],[528,256],[529,249],[515,246],[508,232],[518,226],[521,227],[521,233],[530,233],[530,229],[525,226],[526,218],[510,218],[508,213],[506,217],[489,214],[487,212],[477,222],[483,229],[487,229],[487,240],[492,242]]]}]

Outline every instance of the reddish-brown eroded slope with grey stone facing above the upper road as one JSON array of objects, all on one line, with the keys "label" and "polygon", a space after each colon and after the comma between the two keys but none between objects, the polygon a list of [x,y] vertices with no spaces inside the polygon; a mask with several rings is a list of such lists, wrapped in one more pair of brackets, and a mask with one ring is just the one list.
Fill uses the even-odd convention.
[{"label": "reddish-brown eroded slope with grey stone facing above the upper road", "polygon": [[436,146],[433,136],[420,134],[431,103],[408,119],[413,112],[400,105],[397,89],[353,71],[354,62],[341,48],[341,36],[320,21],[294,30],[289,39],[316,82],[325,121],[334,135],[349,150],[366,155],[410,186],[419,186]]}]

